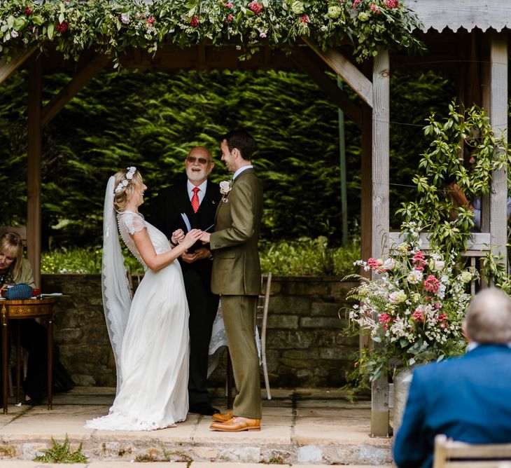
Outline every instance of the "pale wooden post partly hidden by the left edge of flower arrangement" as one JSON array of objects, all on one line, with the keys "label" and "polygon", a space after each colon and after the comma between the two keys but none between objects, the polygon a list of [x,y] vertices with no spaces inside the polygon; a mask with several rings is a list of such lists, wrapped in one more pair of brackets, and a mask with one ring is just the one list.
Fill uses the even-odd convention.
[{"label": "pale wooden post partly hidden by the left edge of flower arrangement", "polygon": [[[372,69],[372,256],[388,254],[389,81],[388,50],[380,49]],[[377,347],[378,345],[375,345]],[[371,436],[388,436],[388,380],[372,383]]]}]

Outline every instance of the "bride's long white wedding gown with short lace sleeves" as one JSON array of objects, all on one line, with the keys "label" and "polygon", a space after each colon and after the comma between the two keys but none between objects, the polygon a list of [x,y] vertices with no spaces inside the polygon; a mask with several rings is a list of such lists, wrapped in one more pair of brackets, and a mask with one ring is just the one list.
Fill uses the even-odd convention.
[{"label": "bride's long white wedding gown with short lace sleeves", "polygon": [[146,273],[133,297],[120,350],[122,383],[109,415],[92,429],[146,431],[170,427],[188,412],[188,303],[179,262],[148,270],[128,233],[147,228],[156,253],[171,249],[165,234],[137,213],[118,216],[119,231]]}]

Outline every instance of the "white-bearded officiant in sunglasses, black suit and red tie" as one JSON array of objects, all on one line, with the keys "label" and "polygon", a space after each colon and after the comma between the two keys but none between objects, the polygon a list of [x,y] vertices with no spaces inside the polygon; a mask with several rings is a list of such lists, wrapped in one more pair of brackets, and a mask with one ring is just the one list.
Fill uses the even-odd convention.
[{"label": "white-bearded officiant in sunglasses, black suit and red tie", "polygon": [[[216,207],[221,200],[220,187],[208,180],[215,166],[211,152],[195,146],[185,160],[186,179],[162,189],[151,205],[148,219],[162,230],[172,244],[175,230],[186,233],[190,228],[207,230],[214,224]],[[211,329],[218,310],[218,295],[211,293],[211,251],[197,242],[180,258],[190,309],[190,376],[188,397],[190,413],[218,413],[209,404],[207,390],[208,350]]]}]

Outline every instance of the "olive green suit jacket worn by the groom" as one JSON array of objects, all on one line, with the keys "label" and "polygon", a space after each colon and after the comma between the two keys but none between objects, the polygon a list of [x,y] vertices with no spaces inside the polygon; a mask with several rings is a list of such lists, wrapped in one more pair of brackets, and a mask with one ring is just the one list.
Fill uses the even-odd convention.
[{"label": "olive green suit jacket worn by the groom", "polygon": [[232,182],[218,204],[211,234],[214,294],[258,296],[261,267],[258,240],[262,218],[262,186],[252,168]]}]

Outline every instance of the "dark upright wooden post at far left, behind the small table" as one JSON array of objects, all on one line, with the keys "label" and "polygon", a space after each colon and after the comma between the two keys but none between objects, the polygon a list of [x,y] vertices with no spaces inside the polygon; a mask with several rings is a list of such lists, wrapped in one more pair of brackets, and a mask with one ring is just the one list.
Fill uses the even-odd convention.
[{"label": "dark upright wooden post at far left, behind the small table", "polygon": [[27,256],[34,270],[36,287],[41,286],[41,59],[29,63]]}]

